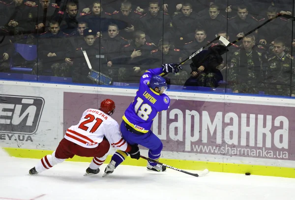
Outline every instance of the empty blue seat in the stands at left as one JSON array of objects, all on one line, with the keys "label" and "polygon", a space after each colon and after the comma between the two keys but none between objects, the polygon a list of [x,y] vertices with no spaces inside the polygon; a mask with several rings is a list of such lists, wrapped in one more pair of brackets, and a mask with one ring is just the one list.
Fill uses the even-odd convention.
[{"label": "empty blue seat in the stands at left", "polygon": [[[32,61],[37,59],[37,45],[14,43],[15,55],[19,53],[25,60]],[[13,66],[13,58],[10,59],[11,71],[31,72],[32,68],[26,66]]]}]

